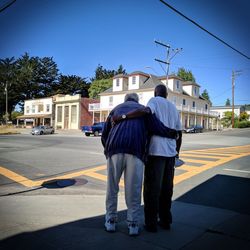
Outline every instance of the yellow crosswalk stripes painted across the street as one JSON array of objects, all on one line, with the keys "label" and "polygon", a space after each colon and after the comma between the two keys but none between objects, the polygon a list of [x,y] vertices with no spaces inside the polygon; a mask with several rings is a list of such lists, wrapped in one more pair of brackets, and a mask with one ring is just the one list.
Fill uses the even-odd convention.
[{"label": "yellow crosswalk stripes painted across the street", "polygon": [[[250,145],[243,146],[234,146],[227,148],[212,148],[212,149],[199,149],[199,150],[187,150],[181,153],[181,159],[183,159],[186,163],[198,163],[200,166],[193,166],[184,164],[183,166],[177,168],[180,170],[186,171],[185,173],[181,173],[175,176],[174,183],[180,183],[181,181],[186,180],[194,175],[197,175],[205,170],[210,168],[225,164],[226,162],[232,161],[234,159],[238,159],[244,156],[250,155]],[[201,158],[201,159],[193,159],[193,158]],[[204,160],[211,159],[211,160]],[[216,160],[217,159],[217,160]],[[20,174],[17,174],[7,168],[0,166],[0,174],[19,183],[26,187],[36,187],[41,186],[44,182],[56,179],[70,179],[75,178],[77,176],[88,176],[94,179],[98,179],[101,181],[107,181],[106,174],[98,173],[99,171],[103,171],[107,168],[106,165],[96,166],[84,170],[80,170],[77,172],[68,173],[61,176],[55,176],[46,179],[40,180],[30,180],[27,177],[24,177]],[[120,186],[124,187],[124,181],[121,179]]]}]

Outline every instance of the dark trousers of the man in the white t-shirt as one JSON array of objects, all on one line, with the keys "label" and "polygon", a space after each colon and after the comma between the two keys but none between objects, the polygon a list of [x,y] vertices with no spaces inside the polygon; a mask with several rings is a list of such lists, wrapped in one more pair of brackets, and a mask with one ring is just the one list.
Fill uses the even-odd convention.
[{"label": "dark trousers of the man in the white t-shirt", "polygon": [[158,218],[164,224],[172,223],[174,164],[175,157],[148,157],[143,190],[146,225],[156,226]]}]

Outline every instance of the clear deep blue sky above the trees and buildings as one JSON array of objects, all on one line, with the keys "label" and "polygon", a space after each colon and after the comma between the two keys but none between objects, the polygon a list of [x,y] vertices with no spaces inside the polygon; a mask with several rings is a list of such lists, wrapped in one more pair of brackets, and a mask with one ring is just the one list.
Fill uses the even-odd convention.
[{"label": "clear deep blue sky above the trees and buildings", "polygon": [[[5,2],[0,0],[0,6]],[[250,56],[248,0],[166,2]],[[0,58],[25,52],[49,56],[62,74],[90,78],[98,64],[164,75],[154,61],[166,59],[166,50],[154,43],[157,39],[183,48],[171,61],[170,73],[180,67],[191,70],[213,105],[231,99],[232,70],[242,71],[235,81],[235,104],[250,103],[250,60],[159,0],[17,0],[0,13],[0,27]]]}]

